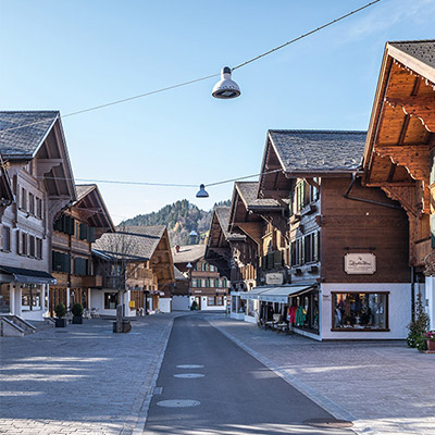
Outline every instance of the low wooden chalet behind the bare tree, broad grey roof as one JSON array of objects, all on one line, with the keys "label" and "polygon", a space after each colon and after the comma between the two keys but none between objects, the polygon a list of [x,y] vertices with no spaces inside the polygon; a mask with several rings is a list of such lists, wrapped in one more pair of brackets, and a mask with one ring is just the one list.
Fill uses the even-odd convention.
[{"label": "low wooden chalet behind the bare tree, broad grey roof", "polygon": [[124,315],[157,310],[171,311],[171,300],[160,290],[174,282],[174,262],[167,229],[157,226],[122,226],[95,241],[94,268],[102,276],[100,288],[90,291],[90,304],[102,314],[114,315],[116,304]]}]

